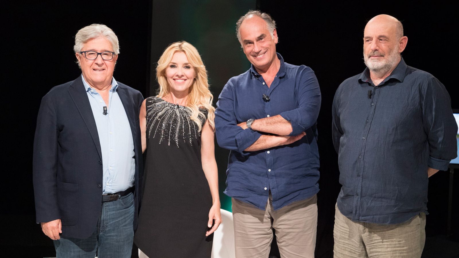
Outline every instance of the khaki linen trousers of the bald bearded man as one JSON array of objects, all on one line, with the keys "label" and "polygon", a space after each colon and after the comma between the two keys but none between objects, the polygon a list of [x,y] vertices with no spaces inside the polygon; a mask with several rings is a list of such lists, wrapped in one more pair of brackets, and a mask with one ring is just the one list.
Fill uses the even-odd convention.
[{"label": "khaki linen trousers of the bald bearded man", "polygon": [[384,225],[354,222],[335,208],[334,258],[420,258],[425,243],[425,213]]}]

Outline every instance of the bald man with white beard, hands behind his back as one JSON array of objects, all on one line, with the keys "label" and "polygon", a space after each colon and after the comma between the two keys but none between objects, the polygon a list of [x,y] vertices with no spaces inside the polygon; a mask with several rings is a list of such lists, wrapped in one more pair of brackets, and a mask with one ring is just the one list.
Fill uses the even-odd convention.
[{"label": "bald man with white beard, hands behind his back", "polygon": [[336,91],[333,142],[342,185],[336,258],[420,257],[428,177],[456,157],[448,92],[405,64],[407,41],[396,18],[372,18],[364,30],[367,68]]}]

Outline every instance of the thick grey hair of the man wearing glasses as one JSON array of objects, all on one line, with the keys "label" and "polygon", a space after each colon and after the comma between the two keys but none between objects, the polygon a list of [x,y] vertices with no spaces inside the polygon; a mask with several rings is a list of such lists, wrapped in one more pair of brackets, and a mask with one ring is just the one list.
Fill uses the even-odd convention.
[{"label": "thick grey hair of the man wearing glasses", "polygon": [[116,34],[106,25],[96,23],[78,30],[77,34],[75,35],[75,45],[73,46],[73,50],[75,53],[79,53],[86,42],[88,42],[90,39],[97,38],[108,39],[108,41],[112,43],[112,48],[113,52],[115,52],[115,55],[119,54],[119,43]]}]

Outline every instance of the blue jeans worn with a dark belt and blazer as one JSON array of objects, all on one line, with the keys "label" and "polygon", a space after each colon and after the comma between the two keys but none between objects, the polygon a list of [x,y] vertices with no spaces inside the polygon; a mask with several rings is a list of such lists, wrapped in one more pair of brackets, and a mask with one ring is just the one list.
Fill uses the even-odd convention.
[{"label": "blue jeans worn with a dark belt and blazer", "polygon": [[84,239],[62,237],[54,241],[56,258],[130,258],[134,239],[134,194],[103,202],[94,233]]}]

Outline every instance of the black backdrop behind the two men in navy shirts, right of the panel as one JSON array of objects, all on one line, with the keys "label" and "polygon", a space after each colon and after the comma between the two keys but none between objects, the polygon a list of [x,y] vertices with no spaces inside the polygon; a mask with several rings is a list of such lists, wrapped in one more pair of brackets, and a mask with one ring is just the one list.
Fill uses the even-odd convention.
[{"label": "black backdrop behind the two men in navy shirts, right of the panel", "polygon": [[[277,22],[277,50],[285,62],[312,67],[322,93],[318,118],[321,190],[316,257],[332,256],[334,205],[341,187],[337,155],[331,140],[331,103],[338,85],[365,68],[362,38],[366,22],[383,13],[402,21],[408,36],[403,52],[405,62],[436,76],[452,97],[453,108],[458,108],[458,90],[453,81],[458,65],[447,46],[448,42],[459,39],[457,7],[457,4],[446,5],[442,1],[260,1],[260,8]],[[440,171],[430,179],[428,238],[423,257],[450,257],[450,252],[443,254],[444,248],[433,238],[446,234],[448,176],[448,172]],[[457,181],[455,209],[459,207]],[[457,211],[453,215],[456,220],[459,218]],[[458,224],[454,227],[458,240]],[[459,256],[458,244],[455,245]]]}]

